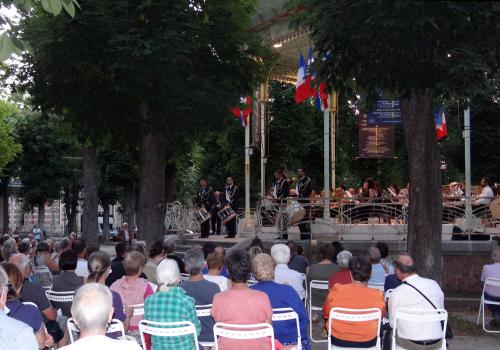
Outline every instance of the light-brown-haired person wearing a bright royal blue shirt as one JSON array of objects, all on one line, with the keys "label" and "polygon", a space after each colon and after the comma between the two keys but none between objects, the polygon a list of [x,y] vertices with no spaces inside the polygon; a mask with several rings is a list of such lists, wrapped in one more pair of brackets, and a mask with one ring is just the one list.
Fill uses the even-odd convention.
[{"label": "light-brown-haired person wearing a bright royal blue shirt", "polygon": [[[307,337],[307,311],[292,287],[274,282],[273,258],[263,253],[256,255],[252,259],[252,271],[258,282],[250,289],[266,293],[273,309],[292,308],[299,316],[302,350],[311,349]],[[284,346],[297,344],[297,326],[294,320],[273,322],[273,328],[274,336],[281,344]]]}]

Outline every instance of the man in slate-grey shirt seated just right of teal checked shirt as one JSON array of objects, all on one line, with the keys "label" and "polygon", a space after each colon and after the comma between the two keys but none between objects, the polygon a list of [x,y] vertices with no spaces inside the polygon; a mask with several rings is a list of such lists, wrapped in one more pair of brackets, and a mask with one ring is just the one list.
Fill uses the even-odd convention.
[{"label": "man in slate-grey shirt seated just right of teal checked shirt", "polygon": [[[210,254],[208,256],[209,264],[211,256],[220,257],[220,255],[217,254]],[[189,280],[183,281],[181,287],[184,288],[187,295],[194,299],[196,305],[211,305],[214,295],[221,291],[216,283],[206,279],[208,275],[205,275],[204,278],[201,273],[204,264],[203,251],[200,248],[191,248],[184,254],[184,265],[186,266],[186,271],[189,273]],[[201,333],[199,340],[204,342],[214,341],[213,319],[211,317],[202,317],[200,318],[200,322]]]}]

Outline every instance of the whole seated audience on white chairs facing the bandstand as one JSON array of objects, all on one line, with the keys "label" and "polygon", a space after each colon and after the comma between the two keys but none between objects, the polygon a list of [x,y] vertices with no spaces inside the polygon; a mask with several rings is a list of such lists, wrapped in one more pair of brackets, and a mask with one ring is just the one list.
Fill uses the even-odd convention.
[{"label": "whole seated audience on white chairs facing the bandstand", "polygon": [[[444,308],[439,285],[419,276],[408,254],[389,259],[388,247],[381,242],[358,256],[339,242],[323,244],[315,264],[302,256],[293,241],[274,244],[267,254],[262,241],[254,239],[247,251],[234,250],[227,256],[224,248],[209,242],[189,249],[182,259],[174,254],[175,245],[170,240],[154,242],[148,254],[141,244],[120,242],[113,260],[104,251],[88,249],[83,239],[75,237],[40,242],[34,244],[34,250],[29,248],[31,242],[5,239],[1,243],[0,344],[8,349],[97,346],[126,350],[141,349],[138,344],[142,342],[153,350],[195,349],[192,335],[141,337],[139,330],[148,322],[190,322],[200,348],[209,349],[214,341],[221,350],[271,348],[269,338],[214,339],[214,325],[225,323],[271,325],[276,349],[296,348],[300,333],[300,348],[308,350],[313,340],[309,338],[310,321],[320,319],[323,321],[316,329],[324,329],[324,335],[328,333],[337,347],[377,345],[380,320],[333,321],[328,329],[334,308],[379,310],[386,320],[383,348],[390,349],[398,310],[432,312]],[[53,275],[50,288],[43,287],[34,272],[34,267],[42,266]],[[492,253],[492,264],[483,268],[481,279],[486,278],[500,278],[498,248]],[[310,281],[327,287],[309,295]],[[49,289],[55,294],[69,292],[73,301],[49,301]],[[484,297],[499,301],[500,290],[487,289]],[[310,311],[309,320],[305,305],[319,306],[322,312]],[[499,307],[489,307],[495,324],[499,322]],[[284,309],[296,314],[299,329],[295,320],[273,321],[273,315]],[[201,315],[203,310],[207,312]],[[78,328],[72,344],[69,318]],[[121,332],[107,333],[111,320],[121,322],[126,339],[121,339]],[[439,348],[442,334],[439,322],[415,327],[414,323],[398,321],[396,340],[407,349],[433,349]]]}]

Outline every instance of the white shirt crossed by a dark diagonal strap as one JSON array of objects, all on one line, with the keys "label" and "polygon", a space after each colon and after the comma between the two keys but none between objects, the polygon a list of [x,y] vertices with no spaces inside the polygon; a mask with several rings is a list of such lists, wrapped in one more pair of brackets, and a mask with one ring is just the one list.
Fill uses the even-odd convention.
[{"label": "white shirt crossed by a dark diagonal strap", "polygon": [[[444,308],[444,294],[436,281],[417,274],[405,278],[404,281],[420,290],[437,308]],[[389,322],[392,328],[394,328],[396,310],[399,308],[434,310],[420,293],[404,283],[394,289],[389,297]],[[441,338],[442,327],[440,322],[398,321],[398,335],[411,340],[434,340]]]}]

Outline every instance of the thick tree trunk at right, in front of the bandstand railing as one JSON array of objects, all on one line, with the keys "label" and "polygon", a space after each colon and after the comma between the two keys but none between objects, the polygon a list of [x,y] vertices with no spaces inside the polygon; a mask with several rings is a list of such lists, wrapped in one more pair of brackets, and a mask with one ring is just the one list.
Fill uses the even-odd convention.
[{"label": "thick tree trunk at right, in front of the bandstand railing", "polygon": [[410,167],[408,252],[418,273],[441,284],[443,203],[433,90],[402,99],[401,117]]}]

